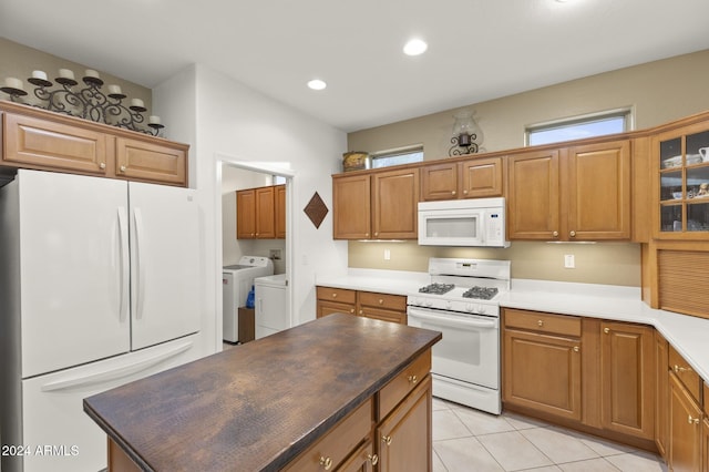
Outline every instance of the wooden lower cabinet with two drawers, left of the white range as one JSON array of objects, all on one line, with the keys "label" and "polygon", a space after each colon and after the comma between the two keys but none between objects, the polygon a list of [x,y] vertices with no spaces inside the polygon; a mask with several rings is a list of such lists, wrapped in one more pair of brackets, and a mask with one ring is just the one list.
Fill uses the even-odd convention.
[{"label": "wooden lower cabinet with two drawers, left of the white range", "polygon": [[407,324],[407,297],[401,295],[317,287],[318,318],[335,312],[359,315],[382,321]]}]

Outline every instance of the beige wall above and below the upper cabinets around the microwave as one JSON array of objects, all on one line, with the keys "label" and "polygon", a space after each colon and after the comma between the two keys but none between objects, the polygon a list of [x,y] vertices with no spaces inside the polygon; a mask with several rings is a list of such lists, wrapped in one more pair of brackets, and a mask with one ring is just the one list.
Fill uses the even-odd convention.
[{"label": "beige wall above and below the upper cabinets around the microwave", "polygon": [[[523,146],[525,126],[561,117],[630,106],[634,129],[641,130],[707,111],[707,78],[709,50],[462,107],[475,110],[483,147],[501,151]],[[424,160],[444,158],[456,110],[350,133],[348,150],[371,153],[422,143]],[[384,248],[391,260],[383,259]],[[514,278],[640,285],[637,244],[520,242],[507,249],[474,249],[350,242],[348,253],[349,266],[358,268],[425,271],[429,257],[500,258],[512,261]],[[575,255],[575,269],[564,268],[565,254]]]}]

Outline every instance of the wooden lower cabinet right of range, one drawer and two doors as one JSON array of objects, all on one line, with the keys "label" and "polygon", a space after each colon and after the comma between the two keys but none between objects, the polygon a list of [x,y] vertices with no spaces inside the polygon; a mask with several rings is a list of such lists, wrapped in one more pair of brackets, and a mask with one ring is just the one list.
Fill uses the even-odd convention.
[{"label": "wooden lower cabinet right of range, one drawer and two doors", "polygon": [[653,449],[654,342],[644,325],[506,308],[504,408]]}]

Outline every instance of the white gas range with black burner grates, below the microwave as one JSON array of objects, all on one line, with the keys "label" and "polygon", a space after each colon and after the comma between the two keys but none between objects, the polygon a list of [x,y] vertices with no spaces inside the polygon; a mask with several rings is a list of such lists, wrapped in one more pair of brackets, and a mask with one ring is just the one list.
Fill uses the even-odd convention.
[{"label": "white gas range with black burner grates, below the microwave", "polygon": [[433,329],[433,396],[500,414],[500,302],[510,261],[429,259],[431,284],[407,297],[410,326]]}]

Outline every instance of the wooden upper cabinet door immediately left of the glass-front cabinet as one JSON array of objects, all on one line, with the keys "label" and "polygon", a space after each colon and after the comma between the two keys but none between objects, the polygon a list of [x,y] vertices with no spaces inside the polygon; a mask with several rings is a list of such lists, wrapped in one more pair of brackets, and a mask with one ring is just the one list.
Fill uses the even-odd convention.
[{"label": "wooden upper cabinet door immediately left of the glass-front cabinet", "polygon": [[630,238],[630,141],[568,148],[564,237]]}]

